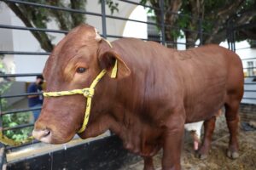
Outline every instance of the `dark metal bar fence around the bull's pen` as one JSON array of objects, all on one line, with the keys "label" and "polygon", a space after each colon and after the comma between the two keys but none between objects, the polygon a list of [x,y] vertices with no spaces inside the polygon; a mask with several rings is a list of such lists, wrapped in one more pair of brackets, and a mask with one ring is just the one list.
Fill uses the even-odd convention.
[{"label": "dark metal bar fence around the bull's pen", "polygon": [[[93,15],[93,16],[97,16],[99,18],[101,18],[102,20],[102,32],[101,35],[102,37],[105,38],[121,38],[122,36],[119,35],[112,35],[112,34],[108,34],[108,30],[107,30],[107,25],[108,25],[108,20],[107,19],[112,19],[112,20],[124,20],[124,21],[132,21],[132,22],[137,22],[137,23],[142,23],[148,26],[156,26],[159,28],[160,30],[160,39],[150,39],[150,40],[154,40],[157,42],[161,42],[162,44],[166,45],[166,44],[183,44],[186,45],[186,42],[171,42],[171,41],[167,41],[166,40],[166,36],[165,36],[165,31],[167,27],[172,27],[172,29],[180,29],[178,26],[171,26],[167,23],[165,23],[164,21],[164,14],[166,13],[165,9],[164,9],[164,0],[160,0],[160,8],[154,8],[148,5],[142,5],[141,3],[136,3],[133,1],[128,1],[128,0],[119,0],[119,2],[121,3],[127,3],[127,4],[131,4],[134,6],[137,5],[142,5],[144,8],[151,8],[154,10],[159,10],[160,11],[160,16],[161,16],[161,20],[160,23],[156,23],[153,21],[141,21],[141,20],[131,20],[128,18],[124,18],[124,17],[120,17],[114,14],[107,14],[106,13],[106,0],[101,0],[101,3],[99,3],[99,5],[101,5],[101,13],[95,13],[95,12],[89,12],[86,11],[84,9],[75,9],[75,8],[66,8],[66,7],[59,7],[59,6],[53,6],[53,5],[49,5],[49,4],[43,4],[43,3],[33,3],[36,1],[19,1],[19,0],[0,0],[0,2],[4,2],[4,3],[16,3],[16,4],[22,4],[22,5],[27,5],[27,6],[31,6],[33,8],[45,8],[48,10],[58,10],[58,11],[65,11],[67,13],[73,13],[73,14],[84,14],[86,16],[88,15]],[[170,12],[172,13],[172,12]],[[177,14],[177,13],[172,13],[173,15],[177,15],[179,17],[189,17],[189,16],[184,16],[183,14]],[[196,46],[200,46],[202,44],[202,40],[203,40],[203,36],[210,34],[209,32],[205,32],[203,31],[202,28],[202,23],[205,22],[205,20],[202,19],[197,19],[197,18],[193,18],[193,17],[189,17],[190,20],[197,20],[198,22],[198,30],[189,30],[189,29],[183,29],[183,31],[191,31],[191,32],[196,32],[199,34],[199,43],[196,44]],[[47,28],[35,28],[35,27],[26,27],[26,26],[10,26],[10,25],[0,25],[0,29],[12,29],[12,30],[19,30],[19,31],[43,31],[43,32],[51,32],[51,33],[59,33],[59,34],[67,34],[68,30],[54,30],[54,29],[47,29]],[[0,30],[1,31],[1,30]],[[233,35],[234,36],[234,35]],[[148,40],[148,39],[144,39],[144,40]],[[233,44],[232,44],[232,49],[233,48]],[[34,51],[8,51],[8,50],[2,50],[0,51],[0,55],[8,55],[9,54],[16,54],[16,55],[46,55],[48,56],[50,54],[50,52],[34,52]],[[15,73],[15,74],[0,74],[0,77],[2,78],[9,78],[9,77],[35,77],[38,76],[41,73],[26,73],[26,74],[19,74],[19,73]],[[38,93],[36,93],[38,94]],[[2,95],[0,94],[0,99],[9,99],[9,98],[17,98],[17,97],[27,97],[28,95],[32,95],[32,94],[14,94],[14,95]],[[1,106],[1,102],[0,102],[0,106]],[[35,108],[33,110],[40,110],[41,108]],[[24,108],[24,109],[15,109],[15,110],[11,110],[11,111],[3,111],[0,107],[0,111],[1,111],[1,120],[2,117],[8,114],[20,114],[22,112],[25,111],[33,111],[32,109],[29,108]],[[0,127],[2,127],[2,122],[0,120]],[[20,128],[24,128],[24,127],[33,127],[33,123],[27,123],[27,124],[21,124],[21,125],[17,125],[15,127],[3,127],[3,133],[8,131],[8,130],[13,130],[15,131],[16,129],[20,129]],[[33,143],[36,143],[38,141],[33,141]],[[20,146],[16,146],[16,147],[20,147]],[[5,150],[12,150],[14,149],[14,146],[5,146]]]}]

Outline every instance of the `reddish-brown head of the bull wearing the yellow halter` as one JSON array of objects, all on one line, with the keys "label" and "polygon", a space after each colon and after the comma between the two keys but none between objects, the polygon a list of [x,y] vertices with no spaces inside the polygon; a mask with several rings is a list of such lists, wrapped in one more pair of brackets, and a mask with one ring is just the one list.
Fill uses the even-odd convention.
[{"label": "reddish-brown head of the bull wearing the yellow halter", "polygon": [[[117,81],[109,77],[115,61],[118,62],[117,79],[129,76],[129,68],[119,54],[102,41],[96,29],[88,25],[79,26],[70,31],[49,56],[44,67],[46,92],[89,88],[97,75],[106,70],[106,76],[96,86],[88,123],[90,126],[90,123],[108,112],[108,98],[111,95],[109,84]],[[86,98],[81,94],[45,98],[33,136],[53,144],[71,140],[84,122],[85,104]],[[86,129],[81,133],[86,133]],[[81,136],[86,136],[81,133]]]}]

